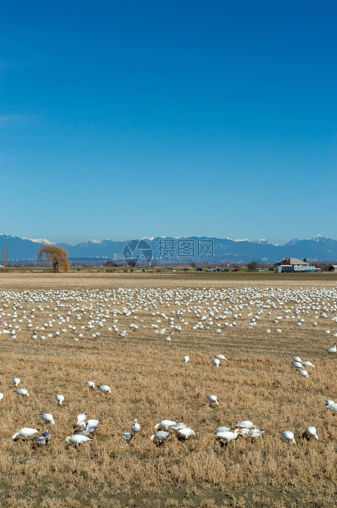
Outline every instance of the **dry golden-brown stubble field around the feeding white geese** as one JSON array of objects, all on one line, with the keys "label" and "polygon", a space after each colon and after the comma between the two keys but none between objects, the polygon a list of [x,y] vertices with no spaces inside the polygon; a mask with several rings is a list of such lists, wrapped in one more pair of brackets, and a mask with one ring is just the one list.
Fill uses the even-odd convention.
[{"label": "dry golden-brown stubble field around the feeding white geese", "polygon": [[[4,399],[0,402],[2,432],[0,438],[0,504],[17,508],[40,506],[149,506],[177,507],[200,506],[333,506],[337,500],[337,418],[324,409],[325,399],[336,398],[335,365],[337,355],[328,356],[325,350],[333,345],[331,333],[336,324],[330,317],[336,312],[327,311],[327,319],[314,317],[313,310],[301,314],[305,322],[296,328],[297,319],[283,319],[280,325],[273,319],[289,307],[311,306],[305,300],[298,303],[301,295],[310,295],[315,288],[320,292],[320,301],[315,305],[329,307],[335,300],[327,297],[324,288],[335,288],[333,276],[303,276],[295,278],[270,275],[259,277],[251,274],[240,277],[210,277],[202,274],[191,275],[110,275],[110,274],[6,274],[0,276],[0,330],[4,321],[12,323],[7,314],[17,303],[19,325],[17,338],[8,334],[0,335],[1,368],[0,391]],[[253,315],[260,310],[256,303],[249,305],[249,294],[259,292],[261,301],[266,303],[270,289],[279,288],[272,301],[276,308],[263,309],[256,326],[248,328]],[[302,290],[299,288],[302,287]],[[113,309],[122,309],[128,299],[119,288],[155,288],[157,295],[176,289],[196,288],[203,291],[202,301],[184,302],[178,306],[174,298],[160,304],[158,296],[152,303],[139,309],[138,330],[128,329],[133,321],[130,316],[113,316]],[[202,290],[202,288],[205,288]],[[211,300],[209,288],[220,291],[223,300]],[[245,290],[246,288],[246,290]],[[22,311],[30,315],[32,308],[41,304],[43,311],[35,311],[33,326],[41,327],[46,321],[56,319],[50,331],[60,330],[66,325],[58,324],[57,314],[64,317],[68,307],[55,312],[55,303],[61,290],[77,291],[82,298],[80,307],[90,304],[92,312],[109,307],[109,318],[104,327],[81,330],[84,337],[73,340],[80,326],[86,325],[88,315],[76,321],[78,311],[71,311],[70,324],[77,326],[76,332],[67,331],[60,337],[31,339],[32,329],[26,322],[18,323]],[[261,297],[265,289],[266,297]],[[92,298],[95,291],[96,300]],[[111,293],[113,290],[116,293]],[[242,316],[236,319],[234,327],[221,327],[215,333],[215,325],[209,330],[191,330],[199,318],[193,312],[183,317],[188,325],[180,332],[171,334],[171,342],[165,342],[170,329],[168,322],[159,316],[159,328],[166,328],[164,335],[154,333],[151,324],[164,312],[173,316],[175,324],[181,324],[172,310],[187,309],[200,305],[200,315],[208,315],[206,308],[216,306],[222,309],[237,298],[242,290],[241,301],[248,307],[237,311]],[[280,295],[288,290],[282,297]],[[23,291],[30,293],[22,294]],[[4,307],[6,293],[12,298]],[[40,293],[39,293],[40,292]],[[39,301],[40,296],[50,292],[53,302]],[[116,302],[104,302],[105,296],[119,295]],[[33,296],[36,303],[25,301]],[[207,295],[208,296],[205,296]],[[40,295],[40,296],[39,296]],[[124,295],[124,296],[122,296]],[[154,293],[155,295],[155,293]],[[248,298],[246,299],[248,295]],[[133,303],[137,293],[134,293]],[[124,300],[124,303],[123,303]],[[255,300],[251,296],[251,300]],[[297,300],[297,301],[296,301]],[[217,302],[217,303],[216,303]],[[75,306],[74,300],[60,302]],[[102,307],[102,304],[104,307]],[[237,302],[237,304],[239,304]],[[46,305],[49,308],[46,309]],[[20,308],[22,306],[22,309]],[[156,307],[156,308],[155,308]],[[271,311],[271,315],[267,312]],[[319,309],[318,316],[321,309]],[[105,310],[103,310],[103,313]],[[252,312],[252,316],[247,316]],[[293,310],[290,315],[292,315]],[[5,315],[4,315],[5,313]],[[89,313],[89,312],[88,312]],[[52,314],[52,317],[49,316]],[[118,319],[119,331],[127,330],[128,336],[121,338],[107,328]],[[140,320],[143,319],[140,327]],[[214,318],[213,318],[214,319]],[[312,323],[317,321],[314,328]],[[207,320],[208,321],[208,320]],[[232,322],[232,315],[226,317]],[[215,323],[215,321],[214,321]],[[222,321],[223,323],[223,321]],[[270,328],[272,333],[266,333]],[[282,333],[275,333],[281,328]],[[68,329],[67,329],[68,330]],[[97,339],[93,331],[101,331]],[[48,332],[38,335],[46,335]],[[212,366],[216,354],[224,354],[227,362],[218,368]],[[183,355],[189,355],[190,362],[182,362]],[[309,379],[301,378],[290,366],[290,357],[299,355],[310,360],[315,368],[309,371]],[[14,393],[11,379],[21,378],[21,388],[29,391],[30,398],[19,398]],[[94,380],[96,386],[107,384],[110,395],[99,390],[89,390],[87,380]],[[57,407],[55,395],[61,393],[65,401]],[[211,408],[206,396],[216,394],[219,406]],[[56,422],[52,439],[45,450],[36,450],[32,440],[14,442],[11,436],[19,428],[27,426],[43,430],[39,418],[41,412],[51,412]],[[68,447],[66,436],[73,433],[76,416],[86,412],[88,418],[102,420],[93,441],[83,444],[78,450]],[[121,433],[130,431],[134,418],[138,418],[141,431],[130,444],[125,444]],[[172,435],[163,446],[157,447],[149,440],[154,425],[161,419],[183,421],[191,426],[196,436],[185,442]],[[229,447],[220,447],[214,438],[217,426],[234,426],[238,420],[251,420],[265,433],[251,442],[239,438]],[[319,441],[307,442],[299,439],[302,432],[314,425]],[[292,430],[296,446],[287,445],[279,432]]]}]

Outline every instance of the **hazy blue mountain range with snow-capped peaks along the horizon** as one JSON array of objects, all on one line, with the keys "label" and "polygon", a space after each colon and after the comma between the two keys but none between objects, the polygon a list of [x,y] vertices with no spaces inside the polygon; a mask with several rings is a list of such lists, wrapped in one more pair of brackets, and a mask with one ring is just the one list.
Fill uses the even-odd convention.
[{"label": "hazy blue mountain range with snow-capped peaks along the horizon", "polygon": [[[185,256],[188,260],[200,259],[213,261],[234,261],[234,262],[245,262],[254,261],[266,261],[276,262],[284,259],[286,256],[294,258],[309,258],[311,260],[337,260],[337,240],[332,240],[326,236],[316,235],[306,240],[293,239],[284,245],[277,245],[269,243],[265,239],[260,240],[233,240],[231,238],[213,238],[213,237],[152,237],[144,238],[146,242],[151,246],[153,250],[154,259],[164,259],[165,253],[168,250],[163,250],[163,245],[171,246],[172,259],[184,260]],[[213,245],[213,256],[210,258],[205,253],[197,255],[198,244],[202,242],[212,242]],[[0,251],[5,244],[8,249],[8,258],[11,261],[29,261],[36,260],[36,252],[39,250],[39,244],[47,243],[58,245],[68,251],[69,259],[85,260],[89,258],[93,259],[109,259],[109,260],[122,260],[123,259],[123,248],[126,241],[115,241],[115,240],[88,240],[77,245],[69,245],[67,243],[57,243],[46,240],[46,239],[31,239],[31,238],[20,238],[17,236],[0,234]],[[184,243],[185,242],[185,243]],[[194,244],[195,251],[192,255],[186,254],[186,251],[180,249],[180,256],[178,257],[178,244]],[[1,260],[0,260],[1,263]]]}]

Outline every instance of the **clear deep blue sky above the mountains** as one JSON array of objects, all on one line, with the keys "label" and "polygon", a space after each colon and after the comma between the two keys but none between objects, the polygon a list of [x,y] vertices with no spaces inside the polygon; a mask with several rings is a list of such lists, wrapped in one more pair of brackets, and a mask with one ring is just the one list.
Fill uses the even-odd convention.
[{"label": "clear deep blue sky above the mountains", "polygon": [[329,1],[5,0],[0,232],[337,238],[336,14]]}]

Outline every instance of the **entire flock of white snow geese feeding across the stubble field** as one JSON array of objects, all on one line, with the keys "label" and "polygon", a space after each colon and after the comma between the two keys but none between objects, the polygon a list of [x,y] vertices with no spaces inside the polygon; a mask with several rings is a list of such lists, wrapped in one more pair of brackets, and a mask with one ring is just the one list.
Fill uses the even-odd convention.
[{"label": "entire flock of white snow geese feeding across the stubble field", "polygon": [[[29,310],[25,310],[23,305]],[[166,315],[158,310],[158,306],[166,306],[169,310]],[[172,308],[172,306],[176,310]],[[170,308],[171,307],[171,308]],[[187,318],[195,320],[192,330],[213,330],[216,333],[226,332],[226,329],[233,328],[237,325],[237,320],[249,318],[247,328],[256,327],[262,314],[271,316],[272,311],[279,314],[273,319],[273,323],[278,324],[275,333],[281,333],[279,328],[281,321],[294,320],[295,327],[301,327],[305,320],[309,321],[310,314],[314,316],[315,321],[312,326],[317,326],[319,319],[328,319],[327,312],[330,313],[330,320],[337,323],[337,291],[335,288],[299,288],[299,289],[280,289],[280,288],[251,288],[242,289],[215,289],[215,288],[197,288],[197,289],[126,289],[118,290],[49,290],[49,291],[23,291],[23,292],[0,292],[0,338],[4,339],[8,336],[11,340],[20,338],[22,329],[26,327],[32,329],[32,340],[48,340],[61,337],[73,339],[78,342],[80,340],[89,339],[97,340],[101,335],[101,330],[105,327],[107,332],[118,334],[124,338],[128,335],[127,330],[119,332],[117,324],[119,319],[125,322],[126,318],[132,319],[132,323],[128,324],[128,330],[136,333],[139,329],[146,328],[143,319],[139,319],[136,315],[141,312],[149,312],[154,323],[150,324],[148,329],[153,333],[168,335],[166,342],[170,342],[176,333],[182,331],[183,327],[189,325]],[[48,317],[45,317],[45,314]],[[40,322],[36,320],[36,316],[42,317],[45,323],[42,326],[34,323]],[[230,322],[229,322],[230,321]],[[76,322],[78,324],[76,324]],[[108,322],[111,325],[108,326]],[[138,324],[137,324],[138,323]],[[163,326],[164,323],[164,326]],[[165,325],[165,323],[167,323]],[[160,327],[161,326],[161,327]],[[170,329],[167,330],[166,327]],[[57,328],[57,329],[56,329]],[[324,330],[325,334],[331,334],[336,337],[337,328],[331,334],[329,329]],[[196,332],[197,333],[197,332]],[[265,333],[271,333],[271,329],[265,329]],[[329,347],[328,354],[337,352],[336,344]],[[311,361],[293,356],[292,367],[297,370],[300,376],[309,377],[307,368],[314,369]],[[183,362],[186,364],[190,361],[188,355],[183,356]],[[226,361],[221,354],[215,355],[212,364],[218,367],[220,362]],[[20,384],[20,378],[13,378],[15,393],[20,397],[29,397],[29,393],[25,388],[17,388]],[[95,383],[88,381],[86,383],[91,389],[95,389]],[[97,387],[102,393],[108,395],[111,393],[110,387],[107,385],[99,385]],[[0,393],[0,400],[4,398],[4,394]],[[64,396],[57,394],[55,396],[58,406],[64,402]],[[217,406],[218,400],[216,395],[207,397],[210,406]],[[326,400],[325,407],[337,412],[337,403],[333,400]],[[25,441],[28,437],[34,436],[33,440],[39,447],[45,447],[50,442],[51,432],[49,426],[54,426],[53,415],[44,413],[40,415],[44,424],[48,425],[47,429],[39,436],[34,436],[40,431],[33,428],[23,427],[12,436],[13,440],[17,440],[19,436]],[[85,442],[91,441],[98,429],[100,420],[87,419],[87,414],[83,413],[76,418],[76,427],[78,428],[73,435],[67,436],[65,441],[73,444],[76,448]],[[140,432],[140,424],[135,419],[131,425],[131,432],[123,432],[122,439],[129,443]],[[162,420],[155,426],[156,432],[150,437],[156,443],[163,443],[173,433],[178,439],[188,439],[195,436],[194,430],[183,422],[175,422],[171,420]],[[215,437],[222,444],[227,444],[238,436],[256,439],[265,431],[256,428],[256,426],[246,420],[237,422],[235,428],[218,427],[214,433]],[[92,436],[92,437],[90,437]],[[290,443],[295,443],[294,434],[290,430],[281,432],[282,438]],[[303,438],[314,438],[318,440],[316,428],[309,426],[302,434]]]}]

